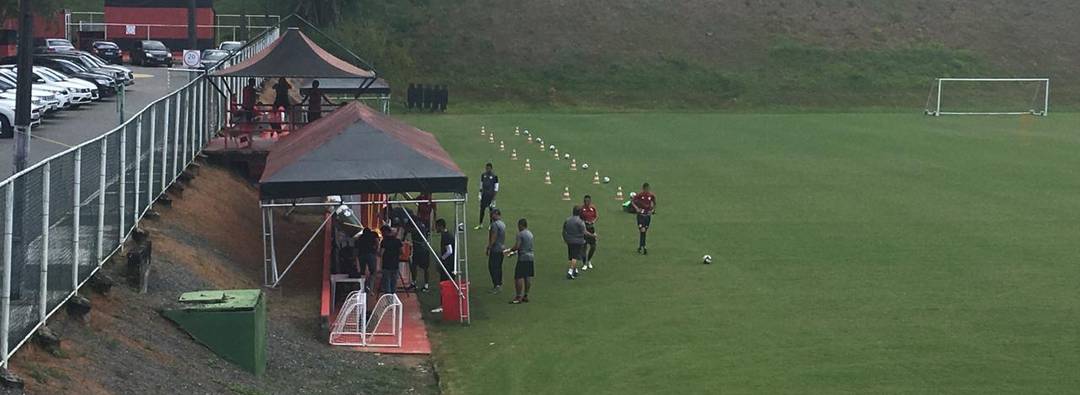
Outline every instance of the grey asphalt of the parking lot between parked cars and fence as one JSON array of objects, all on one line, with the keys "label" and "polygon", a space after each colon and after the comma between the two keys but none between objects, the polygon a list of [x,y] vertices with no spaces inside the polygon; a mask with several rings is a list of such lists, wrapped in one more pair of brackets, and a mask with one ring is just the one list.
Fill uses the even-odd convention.
[{"label": "grey asphalt of the parking lot between parked cars and fence", "polygon": [[[185,73],[175,71],[170,78],[164,68],[131,68],[135,73],[135,84],[127,86],[125,91],[124,112],[129,117],[181,86],[188,78]],[[114,97],[83,105],[78,109],[59,111],[46,118],[41,126],[32,131],[30,165],[111,131],[119,124],[119,120]],[[14,156],[15,140],[0,140],[0,179],[13,173]]]}]

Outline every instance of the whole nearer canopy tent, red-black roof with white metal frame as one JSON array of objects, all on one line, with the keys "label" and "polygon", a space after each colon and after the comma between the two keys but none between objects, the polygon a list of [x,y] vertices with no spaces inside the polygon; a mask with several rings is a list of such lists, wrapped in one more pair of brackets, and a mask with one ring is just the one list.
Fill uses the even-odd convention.
[{"label": "whole nearer canopy tent, red-black roof with white metal frame", "polygon": [[[305,125],[278,141],[267,156],[259,179],[262,210],[265,284],[276,287],[301,254],[316,239],[333,216],[315,230],[308,243],[284,270],[279,271],[274,247],[273,210],[298,206],[353,208],[369,204],[453,203],[455,262],[441,268],[462,282],[469,278],[465,230],[468,177],[430,133],[394,120],[372,108],[351,101],[326,117]],[[446,199],[413,200],[410,192],[448,193]],[[383,202],[350,202],[362,193],[406,194]],[[303,198],[326,199],[325,203],[297,203]],[[446,218],[449,220],[449,218]],[[411,221],[411,217],[409,217]],[[415,223],[414,223],[415,226]],[[428,249],[437,255],[429,244]],[[440,264],[442,265],[442,264]],[[462,287],[460,302],[468,303]],[[468,322],[468,309],[461,309]]]}]

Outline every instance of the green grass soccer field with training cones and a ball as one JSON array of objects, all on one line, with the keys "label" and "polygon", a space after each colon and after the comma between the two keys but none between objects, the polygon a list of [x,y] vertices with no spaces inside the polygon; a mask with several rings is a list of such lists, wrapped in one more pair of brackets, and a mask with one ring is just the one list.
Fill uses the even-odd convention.
[{"label": "green grass soccer field with training cones and a ball", "polygon": [[[494,162],[507,222],[526,217],[537,237],[532,302],[509,305],[511,290],[486,294],[484,234],[471,233],[473,324],[434,325],[449,393],[1080,389],[1080,117],[405,119],[471,178]],[[514,125],[613,182],[591,185]],[[613,199],[642,181],[659,201],[647,257]],[[565,186],[600,204],[596,269],[575,282]]]}]

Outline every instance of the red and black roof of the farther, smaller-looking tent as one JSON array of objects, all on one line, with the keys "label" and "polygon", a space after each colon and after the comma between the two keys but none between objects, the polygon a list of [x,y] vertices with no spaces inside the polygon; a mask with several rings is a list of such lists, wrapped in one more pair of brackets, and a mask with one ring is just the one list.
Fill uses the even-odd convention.
[{"label": "red and black roof of the farther, smaller-looking tent", "polygon": [[375,72],[330,55],[295,27],[247,60],[214,72],[219,77],[373,78]]}]

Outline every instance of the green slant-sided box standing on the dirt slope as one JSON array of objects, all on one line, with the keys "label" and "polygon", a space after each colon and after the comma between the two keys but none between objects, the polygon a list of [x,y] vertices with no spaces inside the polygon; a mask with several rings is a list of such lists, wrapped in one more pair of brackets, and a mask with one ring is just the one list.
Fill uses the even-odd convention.
[{"label": "green slant-sided box standing on the dirt slope", "polygon": [[267,304],[260,289],[202,290],[180,296],[162,314],[215,354],[262,376],[267,368]]}]

